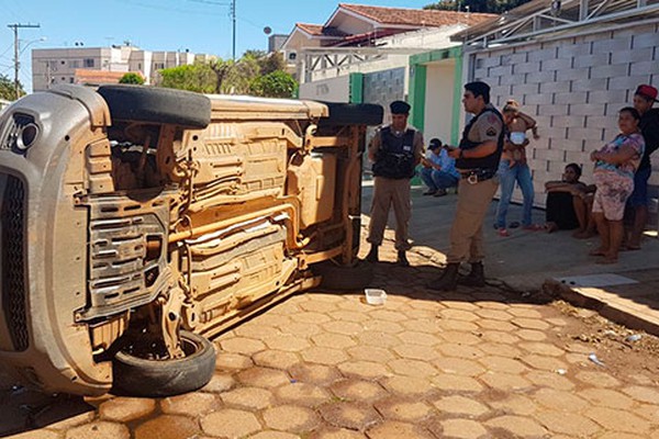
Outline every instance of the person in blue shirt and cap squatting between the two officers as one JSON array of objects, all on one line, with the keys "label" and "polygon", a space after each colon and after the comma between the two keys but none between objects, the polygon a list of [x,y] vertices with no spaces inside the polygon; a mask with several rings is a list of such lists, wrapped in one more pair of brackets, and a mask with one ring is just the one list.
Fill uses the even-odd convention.
[{"label": "person in blue shirt and cap squatting between the two officers", "polygon": [[424,195],[444,196],[446,189],[457,187],[460,173],[456,169],[456,160],[448,157],[442,140],[431,139],[426,157],[422,158],[421,179],[428,187]]}]

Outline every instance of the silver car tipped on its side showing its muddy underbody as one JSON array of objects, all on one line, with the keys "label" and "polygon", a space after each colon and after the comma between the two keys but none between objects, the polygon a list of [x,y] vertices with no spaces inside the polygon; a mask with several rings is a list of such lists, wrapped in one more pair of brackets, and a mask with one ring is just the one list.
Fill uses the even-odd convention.
[{"label": "silver car tipped on its side showing its muddy underbody", "polygon": [[359,246],[379,105],[60,86],[0,116],[0,368],[48,392],[203,386],[208,340]]}]

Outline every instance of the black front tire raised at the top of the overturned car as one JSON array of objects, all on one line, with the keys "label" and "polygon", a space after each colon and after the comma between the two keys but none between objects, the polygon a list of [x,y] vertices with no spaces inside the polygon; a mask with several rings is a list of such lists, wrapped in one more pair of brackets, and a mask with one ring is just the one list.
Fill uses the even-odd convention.
[{"label": "black front tire raised at the top of the overturned car", "polygon": [[144,86],[101,86],[98,93],[118,121],[172,124],[205,128],[211,123],[211,100],[200,93]]}]

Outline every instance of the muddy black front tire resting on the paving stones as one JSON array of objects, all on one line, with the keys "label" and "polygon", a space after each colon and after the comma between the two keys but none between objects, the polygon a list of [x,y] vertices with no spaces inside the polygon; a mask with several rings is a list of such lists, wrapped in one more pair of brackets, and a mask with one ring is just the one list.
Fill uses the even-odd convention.
[{"label": "muddy black front tire resting on the paving stones", "polygon": [[215,371],[215,348],[202,336],[181,330],[183,350],[175,360],[146,360],[120,351],[114,357],[113,393],[126,396],[165,397],[203,387]]}]

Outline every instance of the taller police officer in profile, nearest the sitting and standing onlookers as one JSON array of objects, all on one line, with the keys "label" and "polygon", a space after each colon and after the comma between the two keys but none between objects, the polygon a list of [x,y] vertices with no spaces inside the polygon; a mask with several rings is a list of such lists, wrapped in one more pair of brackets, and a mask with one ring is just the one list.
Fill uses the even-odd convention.
[{"label": "taller police officer in profile, nearest the sitting and standing onlookers", "polygon": [[469,286],[485,284],[482,225],[499,187],[495,175],[503,150],[504,123],[501,113],[490,103],[490,86],[485,82],[467,83],[462,104],[474,117],[465,127],[459,147],[448,153],[456,159],[461,179],[447,266],[442,277],[428,284],[437,291],[456,289],[462,261],[471,263],[471,272],[459,282]]}]

